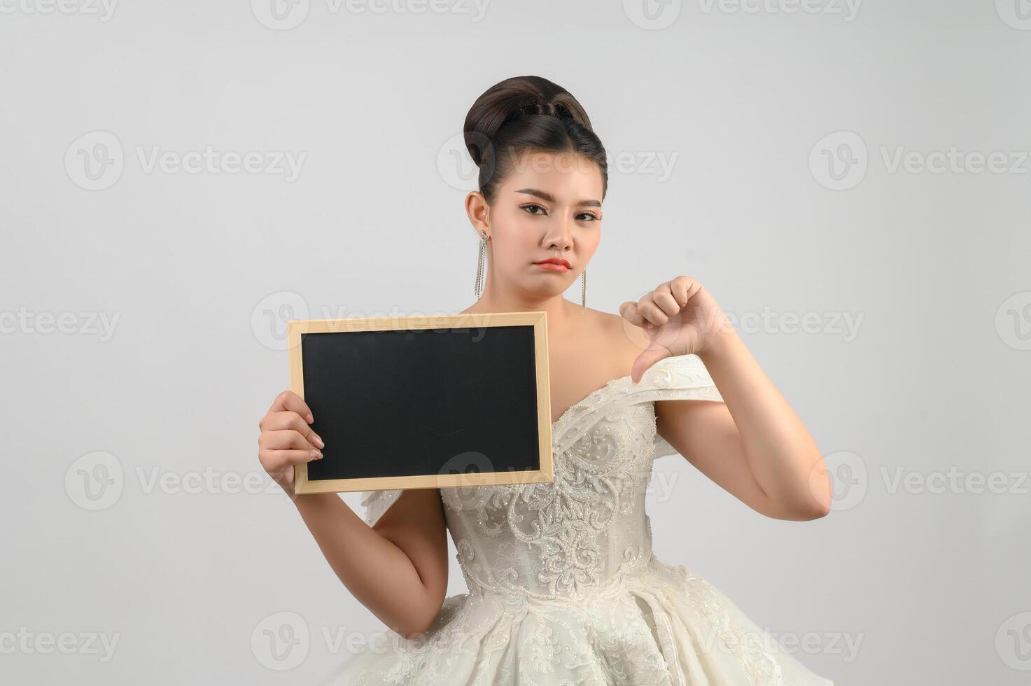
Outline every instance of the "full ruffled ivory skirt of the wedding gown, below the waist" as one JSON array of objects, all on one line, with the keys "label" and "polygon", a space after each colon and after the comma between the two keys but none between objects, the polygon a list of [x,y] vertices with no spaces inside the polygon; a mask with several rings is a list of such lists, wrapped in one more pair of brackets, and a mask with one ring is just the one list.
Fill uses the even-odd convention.
[{"label": "full ruffled ivory skirt of the wedding gown, below the waist", "polygon": [[652,557],[587,599],[448,596],[432,626],[384,631],[323,686],[831,686],[684,565]]}]

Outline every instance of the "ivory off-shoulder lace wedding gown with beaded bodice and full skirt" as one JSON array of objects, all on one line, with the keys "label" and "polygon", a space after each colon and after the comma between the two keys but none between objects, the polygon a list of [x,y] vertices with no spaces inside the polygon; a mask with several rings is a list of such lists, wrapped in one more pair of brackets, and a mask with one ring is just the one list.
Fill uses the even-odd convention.
[{"label": "ivory off-shoulder lace wedding gown with beaded bodice and full skirt", "polygon": [[[608,382],[553,425],[550,484],[441,488],[469,592],[430,628],[387,630],[324,686],[824,686],[719,589],[652,555],[655,400],[722,401],[696,355]],[[374,524],[400,490],[366,491]]]}]

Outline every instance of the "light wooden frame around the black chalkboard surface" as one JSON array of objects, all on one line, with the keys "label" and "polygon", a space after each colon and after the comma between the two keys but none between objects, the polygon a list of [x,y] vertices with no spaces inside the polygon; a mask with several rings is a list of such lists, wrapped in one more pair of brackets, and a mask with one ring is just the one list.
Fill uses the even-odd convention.
[{"label": "light wooden frame around the black chalkboard surface", "polygon": [[301,336],[305,333],[347,331],[390,331],[412,329],[481,328],[493,326],[533,327],[536,368],[537,435],[540,469],[466,473],[392,476],[360,479],[308,480],[306,462],[294,467],[294,491],[299,494],[334,493],[408,488],[454,486],[494,486],[502,484],[543,484],[555,481],[552,455],[552,407],[547,368],[547,313],[483,313],[428,317],[371,317],[364,319],[290,320],[287,337],[290,351],[290,386],[304,397],[304,373]]}]

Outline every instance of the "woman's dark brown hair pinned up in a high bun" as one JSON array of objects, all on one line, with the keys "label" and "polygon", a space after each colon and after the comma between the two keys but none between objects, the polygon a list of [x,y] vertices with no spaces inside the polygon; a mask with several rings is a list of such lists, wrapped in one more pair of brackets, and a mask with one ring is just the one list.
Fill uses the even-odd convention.
[{"label": "woman's dark brown hair pinned up in a high bun", "polygon": [[[541,76],[512,76],[476,98],[462,128],[479,167],[479,192],[494,202],[498,186],[529,151],[574,153],[598,165],[601,197],[608,190],[605,148],[569,91]],[[499,151],[502,153],[499,154]]]}]

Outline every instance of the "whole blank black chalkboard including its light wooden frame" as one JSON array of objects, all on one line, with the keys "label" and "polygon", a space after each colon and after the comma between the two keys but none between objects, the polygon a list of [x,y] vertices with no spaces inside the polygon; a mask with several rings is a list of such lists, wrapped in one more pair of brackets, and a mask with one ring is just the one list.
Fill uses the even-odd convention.
[{"label": "whole blank black chalkboard including its light wooden frame", "polygon": [[323,459],[298,494],[548,483],[546,313],[288,322]]}]

